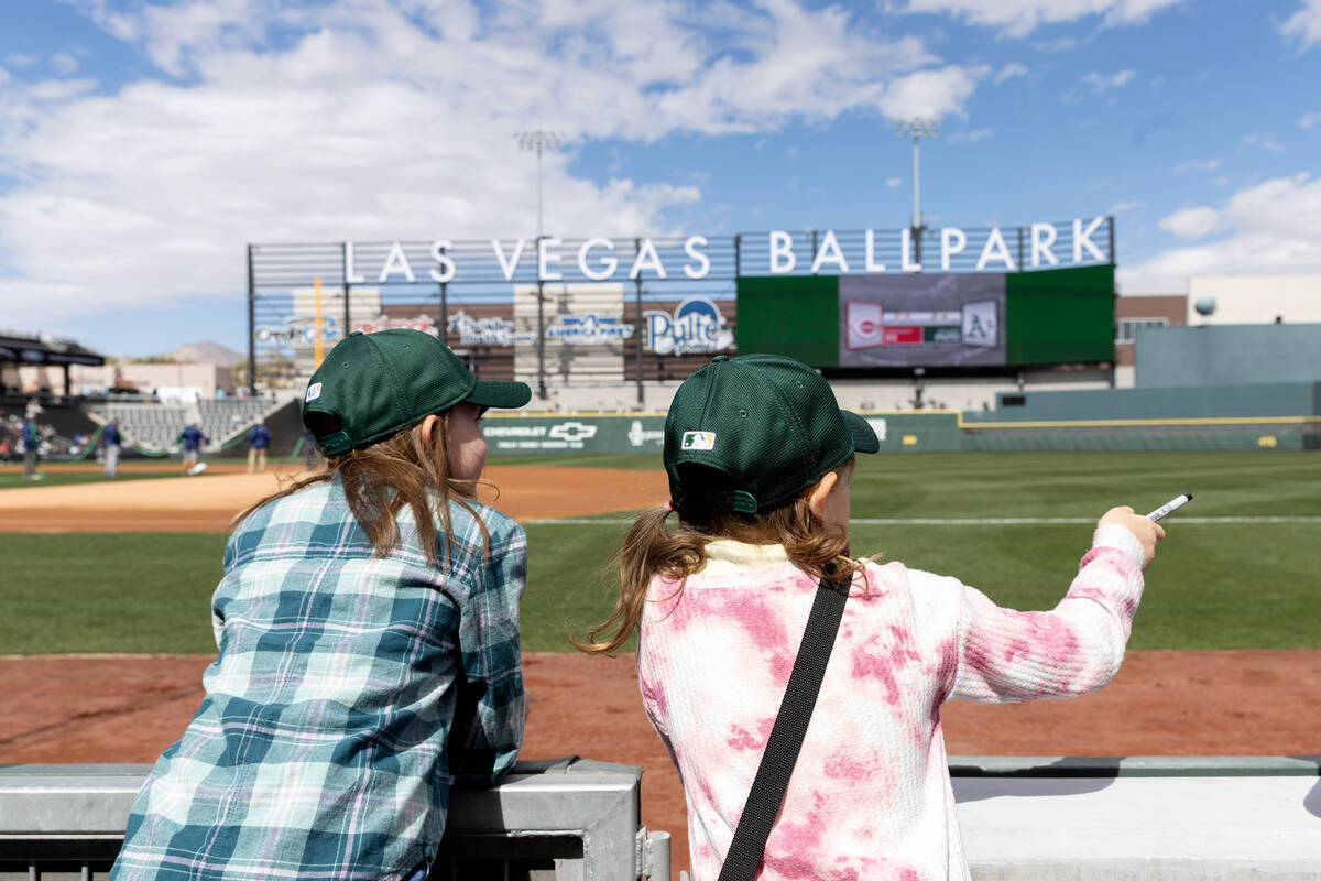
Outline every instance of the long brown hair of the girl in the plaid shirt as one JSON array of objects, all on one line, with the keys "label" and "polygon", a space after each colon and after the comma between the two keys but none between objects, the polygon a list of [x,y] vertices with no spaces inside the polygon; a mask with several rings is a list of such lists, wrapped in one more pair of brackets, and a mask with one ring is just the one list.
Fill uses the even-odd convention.
[{"label": "long brown hair of the girl in the plaid shirt", "polygon": [[[330,416],[320,417],[326,423],[337,421]],[[449,516],[450,502],[456,502],[477,520],[485,549],[490,535],[486,524],[469,505],[477,498],[477,483],[450,476],[449,412],[437,413],[436,419],[439,421],[432,427],[429,437],[423,431],[424,420],[419,420],[394,437],[371,446],[328,457],[320,472],[296,479],[256,502],[234,518],[231,528],[268,502],[338,476],[343,483],[349,510],[371,540],[375,556],[387,557],[399,544],[399,524],[395,516],[406,505],[412,509],[413,522],[417,524],[417,540],[427,555],[427,561],[432,565],[440,565],[441,560],[448,565],[450,549],[461,549]],[[317,433],[330,433],[338,428],[328,424],[318,427]],[[439,535],[436,514],[440,515],[445,534],[440,555],[436,552]]]}]

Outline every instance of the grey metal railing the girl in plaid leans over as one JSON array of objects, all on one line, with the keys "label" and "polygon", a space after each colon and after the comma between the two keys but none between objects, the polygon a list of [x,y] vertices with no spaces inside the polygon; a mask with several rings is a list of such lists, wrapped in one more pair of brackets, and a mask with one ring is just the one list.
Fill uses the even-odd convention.
[{"label": "grey metal railing the girl in plaid leans over", "polygon": [[[0,878],[104,876],[149,765],[0,767]],[[519,762],[499,786],[450,793],[433,881],[670,878],[670,833],[639,822],[642,769]]]}]

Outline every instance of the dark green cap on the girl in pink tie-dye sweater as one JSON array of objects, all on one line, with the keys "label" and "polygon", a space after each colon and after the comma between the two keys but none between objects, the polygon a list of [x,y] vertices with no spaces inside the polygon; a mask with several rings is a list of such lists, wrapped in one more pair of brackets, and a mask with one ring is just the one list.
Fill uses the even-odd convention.
[{"label": "dark green cap on the girl in pink tie-dye sweater", "polygon": [[664,420],[664,470],[680,510],[769,511],[880,448],[820,374],[783,355],[716,355],[679,386]]}]

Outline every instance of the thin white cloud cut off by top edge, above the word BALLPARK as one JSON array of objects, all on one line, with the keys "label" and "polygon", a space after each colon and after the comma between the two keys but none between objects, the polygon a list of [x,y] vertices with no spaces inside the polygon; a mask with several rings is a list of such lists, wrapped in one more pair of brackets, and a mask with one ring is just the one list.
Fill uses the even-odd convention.
[{"label": "thin white cloud cut off by top edge, above the word BALLPARK", "polygon": [[[904,12],[937,12],[1022,37],[1041,25],[1100,16],[1104,26],[1141,24],[1182,0],[909,0]],[[1316,3],[1317,0],[1312,0]]]}]

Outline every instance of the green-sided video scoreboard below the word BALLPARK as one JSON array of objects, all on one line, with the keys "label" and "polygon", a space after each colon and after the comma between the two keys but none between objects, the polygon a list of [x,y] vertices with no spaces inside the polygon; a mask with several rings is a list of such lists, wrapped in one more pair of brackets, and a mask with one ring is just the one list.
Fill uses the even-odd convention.
[{"label": "green-sided video scoreboard below the word BALLPARK", "polygon": [[1114,267],[738,279],[738,351],[814,367],[1112,361]]}]

